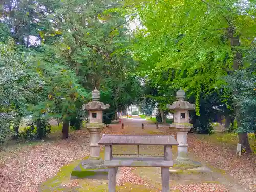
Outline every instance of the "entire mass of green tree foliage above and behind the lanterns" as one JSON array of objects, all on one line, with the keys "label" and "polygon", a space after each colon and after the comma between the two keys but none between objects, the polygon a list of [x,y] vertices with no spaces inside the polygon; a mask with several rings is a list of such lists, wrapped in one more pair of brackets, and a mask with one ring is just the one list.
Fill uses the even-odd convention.
[{"label": "entire mass of green tree foliage above and behind the lanterns", "polygon": [[150,113],[157,104],[162,122],[181,87],[196,104],[198,132],[210,133],[221,111],[233,126],[236,118],[250,152],[255,7],[240,0],[5,0],[0,113],[15,114],[11,122],[30,114],[37,130],[42,119],[62,119],[67,138],[94,87],[111,105],[104,117],[117,118],[132,103]]}]

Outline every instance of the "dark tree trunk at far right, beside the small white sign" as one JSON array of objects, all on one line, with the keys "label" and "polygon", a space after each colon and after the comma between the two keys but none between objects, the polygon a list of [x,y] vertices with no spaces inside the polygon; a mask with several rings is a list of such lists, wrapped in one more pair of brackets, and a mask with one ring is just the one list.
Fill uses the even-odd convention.
[{"label": "dark tree trunk at far right, beside the small white sign", "polygon": [[[231,47],[233,48],[233,50],[237,50],[237,47],[240,45],[240,43],[239,43],[239,35],[234,36],[236,28],[229,27],[227,30],[228,30]],[[236,51],[236,53],[234,53],[233,70],[238,70],[239,67],[241,66],[241,63],[242,63],[242,53],[240,51]],[[234,89],[233,94],[238,95],[239,94],[238,90]],[[238,111],[239,111],[239,107],[236,106],[236,108],[234,108],[235,114],[237,114]],[[240,127],[241,125],[240,119],[239,118],[236,118],[236,119],[237,119],[237,125],[238,127]],[[242,145],[242,148],[244,148],[247,153],[252,153],[247,132],[239,133],[238,138],[239,138],[239,143]]]}]

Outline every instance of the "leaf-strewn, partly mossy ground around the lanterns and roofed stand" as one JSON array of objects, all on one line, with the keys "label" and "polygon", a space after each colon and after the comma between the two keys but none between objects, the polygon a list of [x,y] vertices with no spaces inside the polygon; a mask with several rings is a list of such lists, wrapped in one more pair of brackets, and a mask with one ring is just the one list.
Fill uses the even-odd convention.
[{"label": "leaf-strewn, partly mossy ground around the lanterns and roofed stand", "polygon": [[[103,130],[105,134],[172,134],[167,126],[147,123],[142,119],[123,119],[124,130],[120,124],[114,124]],[[144,123],[144,130],[141,129]],[[71,170],[89,155],[89,135],[83,129],[73,131],[70,138],[61,141],[52,134],[53,141],[38,142],[0,152],[0,191],[106,191],[107,180],[70,180]],[[193,159],[206,163],[216,173],[217,183],[171,183],[171,191],[230,191],[239,183],[237,191],[256,191],[255,156],[237,157],[235,147],[219,145],[205,140],[201,136],[189,134],[189,151]],[[124,153],[131,148],[116,148]],[[142,148],[141,153],[158,152],[159,148],[150,150]],[[175,152],[175,150],[174,150]],[[175,154],[174,154],[175,157]],[[70,163],[70,164],[69,164]],[[63,166],[66,165],[66,166]],[[62,168],[61,168],[62,167]],[[60,169],[61,168],[61,169]],[[60,170],[60,171],[59,171]],[[119,170],[117,191],[159,191],[161,188],[157,168],[130,168]],[[225,174],[226,173],[226,174]],[[219,174],[219,175],[218,175]],[[50,178],[50,179],[49,179]],[[48,180],[47,180],[48,179]],[[42,184],[44,183],[44,184]],[[229,186],[230,184],[230,186]],[[40,187],[39,187],[40,186]]]}]

